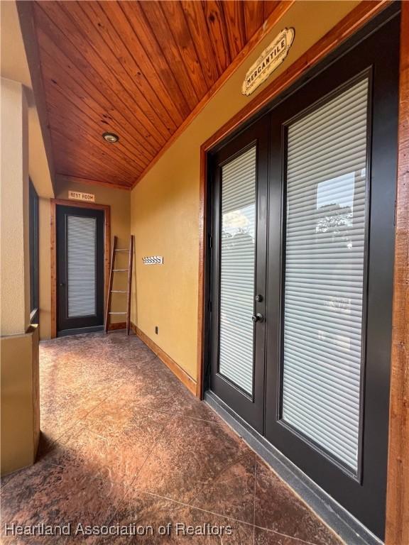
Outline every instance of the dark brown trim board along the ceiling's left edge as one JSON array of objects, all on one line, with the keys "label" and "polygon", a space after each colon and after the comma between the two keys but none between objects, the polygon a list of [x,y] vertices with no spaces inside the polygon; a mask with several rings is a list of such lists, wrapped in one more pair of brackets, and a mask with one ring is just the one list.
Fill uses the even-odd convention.
[{"label": "dark brown trim board along the ceiling's left edge", "polygon": [[38,50],[36,28],[34,25],[33,4],[32,2],[17,0],[16,7],[18,20],[20,21],[21,26],[21,34],[23,35],[24,49],[26,50],[31,84],[33,86],[34,100],[36,101],[38,119],[40,121],[41,135],[43,136],[45,156],[47,158],[48,169],[50,170],[51,183],[55,192],[55,160],[51,142],[48,109],[45,101],[45,89],[41,76],[40,52]]}]

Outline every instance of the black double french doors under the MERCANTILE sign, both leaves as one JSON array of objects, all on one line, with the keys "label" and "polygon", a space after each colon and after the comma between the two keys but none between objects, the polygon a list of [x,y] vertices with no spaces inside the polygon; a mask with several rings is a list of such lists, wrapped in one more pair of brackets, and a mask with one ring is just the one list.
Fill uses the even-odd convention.
[{"label": "black double french doors under the MERCANTILE sign, both leaves", "polygon": [[209,387],[381,538],[398,33],[395,17],[211,158]]}]

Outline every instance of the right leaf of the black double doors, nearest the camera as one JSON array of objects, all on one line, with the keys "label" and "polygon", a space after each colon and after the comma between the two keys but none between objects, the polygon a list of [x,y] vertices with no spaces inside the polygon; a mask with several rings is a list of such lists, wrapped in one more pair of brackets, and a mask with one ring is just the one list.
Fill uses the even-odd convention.
[{"label": "right leaf of the black double doors, nearest the camera", "polygon": [[383,538],[395,17],[271,113],[266,438]]}]

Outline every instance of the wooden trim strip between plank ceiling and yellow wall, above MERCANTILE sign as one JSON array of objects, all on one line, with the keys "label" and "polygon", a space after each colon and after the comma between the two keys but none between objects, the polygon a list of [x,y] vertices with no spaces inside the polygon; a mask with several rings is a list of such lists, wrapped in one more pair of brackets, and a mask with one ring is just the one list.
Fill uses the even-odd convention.
[{"label": "wooden trim strip between plank ceiling and yellow wall, above MERCANTILE sign", "polygon": [[205,108],[206,104],[209,102],[210,99],[214,96],[214,94],[217,93],[217,91],[222,87],[224,83],[227,82],[229,77],[233,75],[233,73],[237,70],[239,65],[241,65],[242,62],[246,60],[247,57],[253,52],[254,48],[257,47],[257,45],[265,38],[265,36],[271,31],[273,26],[275,26],[278,21],[280,21],[280,18],[284,16],[285,13],[290,9],[290,7],[294,4],[295,0],[282,0],[280,1],[280,4],[276,7],[276,9],[273,10],[271,15],[266,18],[266,21],[264,21],[263,25],[256,31],[255,34],[250,38],[250,40],[246,43],[244,48],[240,51],[240,53],[234,58],[233,62],[230,63],[230,65],[227,67],[226,70],[224,70],[223,74],[217,79],[217,81],[213,84],[213,86],[209,89],[209,91],[205,94],[205,97],[203,97],[200,102],[195,106],[195,108],[191,111],[189,116],[183,121],[183,123],[178,127],[178,129],[173,133],[173,135],[169,138],[169,140],[163,145],[163,148],[160,149],[160,151],[155,155],[155,157],[151,160],[151,163],[143,170],[141,175],[133,182],[133,187],[135,187],[138,182],[140,182],[143,177],[145,177],[149,170],[153,167],[153,165],[156,165],[158,163],[158,160],[164,155],[164,153],[170,148],[170,146],[178,139],[178,137],[182,134],[182,132],[185,131],[185,129],[192,123],[192,121],[197,117],[202,109]]}]

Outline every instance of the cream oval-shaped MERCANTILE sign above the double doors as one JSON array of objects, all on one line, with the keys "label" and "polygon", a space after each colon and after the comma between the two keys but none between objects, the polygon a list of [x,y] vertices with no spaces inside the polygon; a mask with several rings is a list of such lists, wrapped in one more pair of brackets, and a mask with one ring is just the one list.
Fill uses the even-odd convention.
[{"label": "cream oval-shaped MERCANTILE sign above the double doors", "polygon": [[294,41],[294,28],[284,28],[246,73],[241,93],[247,97],[280,66]]}]

